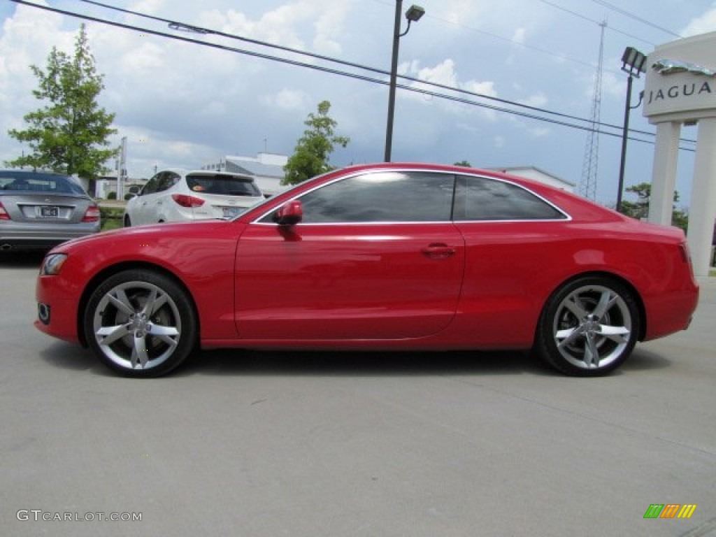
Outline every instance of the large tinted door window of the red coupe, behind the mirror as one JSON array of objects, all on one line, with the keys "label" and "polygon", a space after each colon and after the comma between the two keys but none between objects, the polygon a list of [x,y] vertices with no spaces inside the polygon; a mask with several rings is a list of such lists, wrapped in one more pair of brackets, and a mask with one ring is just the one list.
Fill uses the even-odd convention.
[{"label": "large tinted door window of the red coupe, behind the mirror", "polygon": [[454,189],[452,174],[384,171],[339,180],[299,200],[304,223],[447,222]]}]

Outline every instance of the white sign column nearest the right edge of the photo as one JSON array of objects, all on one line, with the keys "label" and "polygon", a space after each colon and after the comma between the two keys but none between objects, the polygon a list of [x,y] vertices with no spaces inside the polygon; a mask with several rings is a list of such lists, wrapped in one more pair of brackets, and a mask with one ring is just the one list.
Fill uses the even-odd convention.
[{"label": "white sign column nearest the right edge of the photo", "polygon": [[699,120],[689,209],[689,248],[697,276],[708,276],[716,219],[716,118]]}]

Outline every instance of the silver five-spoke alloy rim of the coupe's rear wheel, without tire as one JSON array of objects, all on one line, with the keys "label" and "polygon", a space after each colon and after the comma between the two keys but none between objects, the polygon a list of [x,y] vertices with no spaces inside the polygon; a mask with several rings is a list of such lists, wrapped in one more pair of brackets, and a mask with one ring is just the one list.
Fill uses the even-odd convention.
[{"label": "silver five-spoke alloy rim of the coupe's rear wheel, without tire", "polygon": [[629,346],[632,314],[613,289],[581,286],[558,304],[552,334],[558,352],[574,367],[602,369]]}]

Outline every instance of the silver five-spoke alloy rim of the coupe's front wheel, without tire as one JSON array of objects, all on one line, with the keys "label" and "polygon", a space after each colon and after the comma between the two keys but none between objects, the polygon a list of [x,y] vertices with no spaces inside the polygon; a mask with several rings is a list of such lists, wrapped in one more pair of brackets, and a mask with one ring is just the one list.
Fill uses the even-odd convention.
[{"label": "silver five-spoke alloy rim of the coupe's front wheel, without tire", "polygon": [[94,311],[102,354],[123,369],[152,369],[169,359],[181,337],[181,316],[166,291],[127,281],[107,291]]}]

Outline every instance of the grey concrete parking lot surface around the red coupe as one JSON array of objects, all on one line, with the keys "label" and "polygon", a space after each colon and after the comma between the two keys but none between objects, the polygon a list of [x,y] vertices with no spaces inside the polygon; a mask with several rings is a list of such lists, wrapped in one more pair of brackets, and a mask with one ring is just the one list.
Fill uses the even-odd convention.
[{"label": "grey concrete parking lot surface around the red coupe", "polygon": [[134,380],[34,329],[39,261],[0,258],[0,535],[716,536],[716,279],[609,377],[211,351]]}]

